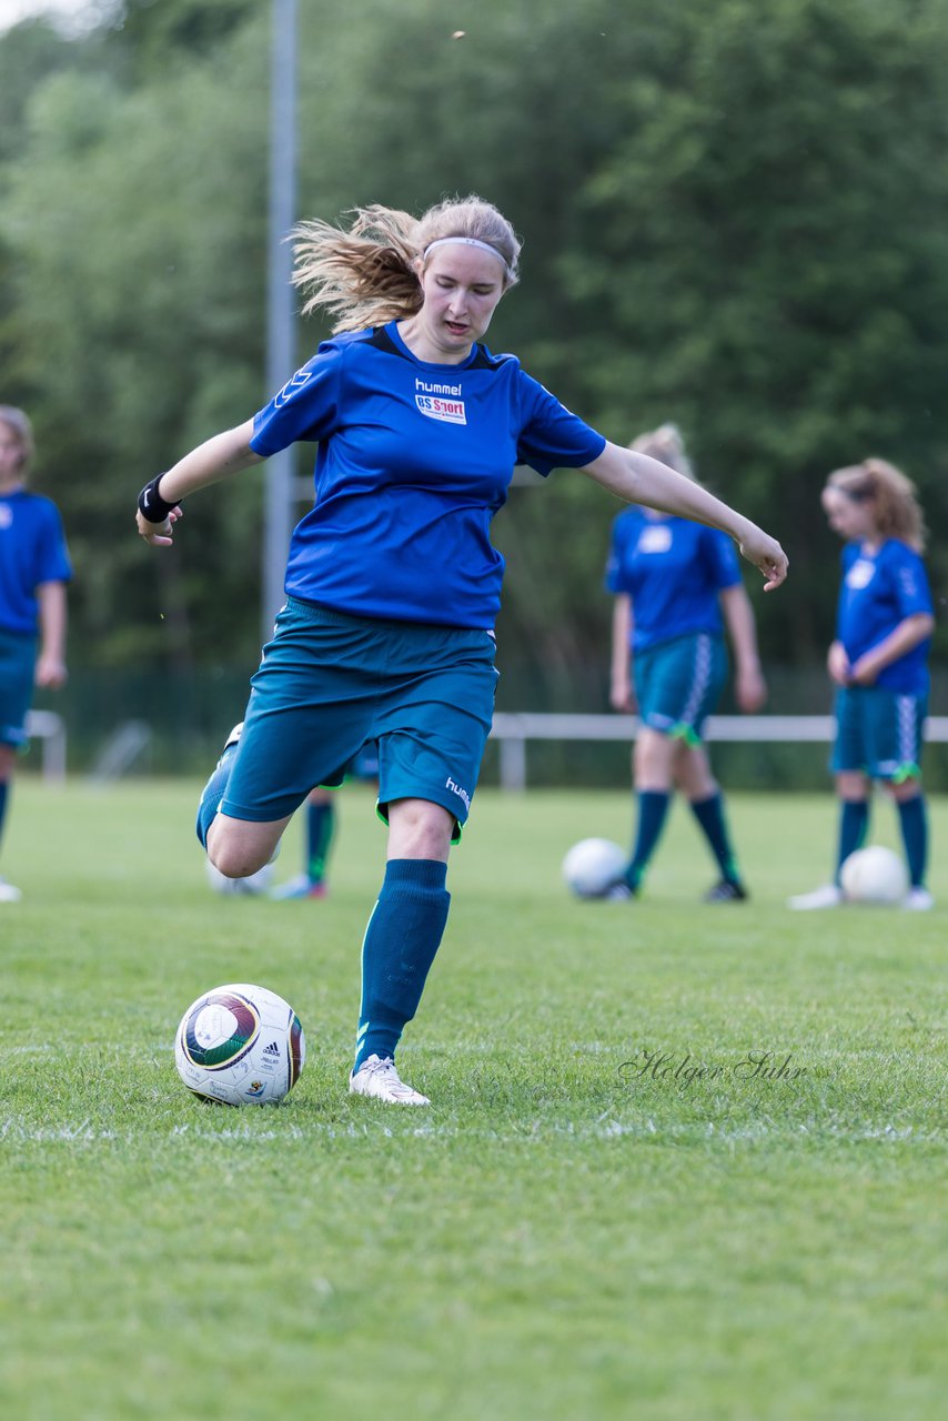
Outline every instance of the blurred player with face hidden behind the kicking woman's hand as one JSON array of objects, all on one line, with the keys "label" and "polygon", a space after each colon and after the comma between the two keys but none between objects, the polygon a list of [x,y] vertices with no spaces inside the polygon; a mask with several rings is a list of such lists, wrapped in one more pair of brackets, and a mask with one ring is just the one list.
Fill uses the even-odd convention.
[{"label": "blurred player with face hidden behind the kicking woman's hand", "polygon": [[[674,425],[642,435],[631,448],[691,475]],[[632,750],[635,840],[625,878],[608,897],[638,894],[677,789],[718,864],[721,877],[705,902],[740,902],[748,894],[702,742],[728,674],[725,624],[738,705],[758,710],[766,696],[753,610],[733,544],[718,529],[627,509],[613,524],[605,583],[615,594],[610,701],[617,710],[638,706],[641,719]]]}]

